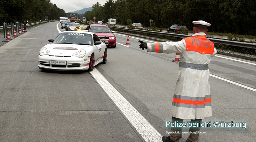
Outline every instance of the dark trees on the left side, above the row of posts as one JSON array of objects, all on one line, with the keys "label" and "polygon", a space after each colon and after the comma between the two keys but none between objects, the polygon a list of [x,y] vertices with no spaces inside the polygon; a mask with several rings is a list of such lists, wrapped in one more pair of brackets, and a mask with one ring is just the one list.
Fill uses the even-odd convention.
[{"label": "dark trees on the left side, above the row of posts", "polygon": [[49,20],[65,17],[66,12],[50,0],[1,0],[0,24],[16,21],[38,22],[48,16]]}]

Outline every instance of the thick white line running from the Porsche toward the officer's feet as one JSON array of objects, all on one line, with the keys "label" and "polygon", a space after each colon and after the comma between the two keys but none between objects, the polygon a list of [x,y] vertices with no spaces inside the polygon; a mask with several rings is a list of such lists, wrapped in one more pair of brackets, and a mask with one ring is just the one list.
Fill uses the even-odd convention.
[{"label": "thick white line running from the Porsche toward the officer's feet", "polygon": [[162,136],[141,114],[104,78],[95,68],[90,72],[102,89],[108,94],[132,126],[147,142],[161,141]]}]

